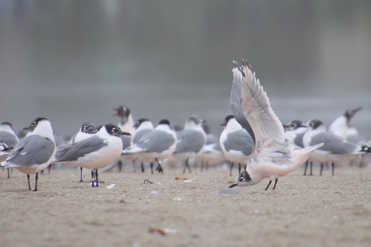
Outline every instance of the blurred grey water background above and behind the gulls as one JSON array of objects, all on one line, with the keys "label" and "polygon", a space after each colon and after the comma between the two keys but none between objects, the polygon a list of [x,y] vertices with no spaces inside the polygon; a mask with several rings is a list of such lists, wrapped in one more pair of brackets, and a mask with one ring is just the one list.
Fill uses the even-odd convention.
[{"label": "blurred grey water background above and behind the gulls", "polygon": [[219,136],[242,58],[282,123],[361,106],[351,124],[371,139],[371,1],[1,0],[0,121],[68,135],[124,104]]}]

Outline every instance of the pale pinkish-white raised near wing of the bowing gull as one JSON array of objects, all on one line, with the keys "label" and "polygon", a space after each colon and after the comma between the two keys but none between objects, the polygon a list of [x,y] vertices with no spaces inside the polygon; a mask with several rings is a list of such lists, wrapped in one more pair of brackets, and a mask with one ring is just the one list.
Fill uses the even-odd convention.
[{"label": "pale pinkish-white raised near wing of the bowing gull", "polygon": [[279,146],[286,145],[282,123],[270,107],[269,98],[260,86],[259,79],[247,64],[242,65],[241,107],[254,132],[255,148],[273,145],[279,149]]}]

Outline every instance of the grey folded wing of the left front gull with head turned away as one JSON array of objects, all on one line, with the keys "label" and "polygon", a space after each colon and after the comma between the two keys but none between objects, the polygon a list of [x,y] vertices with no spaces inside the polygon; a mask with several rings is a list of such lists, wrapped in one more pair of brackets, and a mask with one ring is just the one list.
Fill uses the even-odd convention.
[{"label": "grey folded wing of the left front gull with head turned away", "polygon": [[8,158],[16,165],[32,166],[47,162],[53,155],[55,142],[52,139],[39,135],[24,137],[16,144]]}]

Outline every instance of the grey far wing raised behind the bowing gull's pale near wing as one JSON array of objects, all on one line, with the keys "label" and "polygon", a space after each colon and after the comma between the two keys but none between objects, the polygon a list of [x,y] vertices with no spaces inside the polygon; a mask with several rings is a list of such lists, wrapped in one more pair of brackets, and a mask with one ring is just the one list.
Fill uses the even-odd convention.
[{"label": "grey far wing raised behind the bowing gull's pale near wing", "polygon": [[243,110],[241,107],[241,87],[242,87],[242,73],[237,68],[237,63],[233,61],[233,84],[231,90],[231,102],[230,107],[233,112],[233,116],[236,119],[237,123],[239,123],[247,132],[249,132],[250,136],[252,137],[255,143],[255,136],[253,130],[249,122],[246,120],[246,117],[243,114]]}]

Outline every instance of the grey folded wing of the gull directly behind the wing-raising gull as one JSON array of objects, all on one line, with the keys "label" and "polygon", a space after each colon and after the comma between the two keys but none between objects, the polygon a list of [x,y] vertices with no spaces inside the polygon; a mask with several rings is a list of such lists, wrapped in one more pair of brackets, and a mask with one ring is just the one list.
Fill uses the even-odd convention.
[{"label": "grey folded wing of the gull directly behind the wing-raising gull", "polygon": [[227,139],[223,143],[227,151],[236,150],[249,156],[254,147],[254,141],[246,130],[237,130],[227,134]]}]

